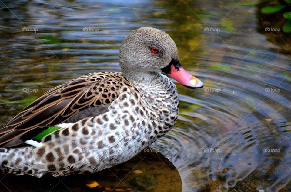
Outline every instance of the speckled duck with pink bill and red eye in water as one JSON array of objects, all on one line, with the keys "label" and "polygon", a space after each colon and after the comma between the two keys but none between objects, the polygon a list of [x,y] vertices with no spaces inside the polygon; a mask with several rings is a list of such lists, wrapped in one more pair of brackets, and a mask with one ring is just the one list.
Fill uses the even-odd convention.
[{"label": "speckled duck with pink bill and red eye in water", "polygon": [[133,30],[118,57],[121,72],[63,83],[5,124],[0,171],[64,176],[126,162],[174,126],[179,98],[169,77],[187,88],[203,87],[180,65],[174,40],[162,30]]}]

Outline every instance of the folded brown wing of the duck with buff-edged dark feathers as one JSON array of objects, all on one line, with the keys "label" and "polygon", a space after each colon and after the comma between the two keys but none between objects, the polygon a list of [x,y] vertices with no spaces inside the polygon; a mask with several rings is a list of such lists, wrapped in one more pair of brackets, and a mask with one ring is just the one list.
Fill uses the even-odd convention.
[{"label": "folded brown wing of the duck with buff-edged dark feathers", "polygon": [[0,146],[19,145],[88,107],[110,104],[129,82],[121,72],[98,72],[59,85],[26,107],[0,129]]}]

